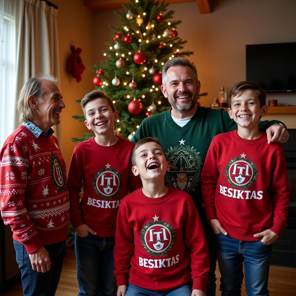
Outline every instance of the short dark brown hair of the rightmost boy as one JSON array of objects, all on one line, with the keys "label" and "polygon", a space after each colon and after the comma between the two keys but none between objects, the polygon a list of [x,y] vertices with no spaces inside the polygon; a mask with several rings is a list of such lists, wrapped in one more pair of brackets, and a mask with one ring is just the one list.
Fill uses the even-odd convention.
[{"label": "short dark brown hair of the rightmost boy", "polygon": [[229,93],[229,108],[230,109],[231,109],[231,99],[234,96],[240,96],[242,94],[242,92],[246,89],[251,89],[251,90],[255,91],[255,93],[257,94],[259,103],[260,103],[260,108],[266,104],[266,93],[259,85],[257,85],[256,83],[254,83],[252,81],[241,81],[241,82],[234,84],[234,86],[232,86],[231,91]]}]

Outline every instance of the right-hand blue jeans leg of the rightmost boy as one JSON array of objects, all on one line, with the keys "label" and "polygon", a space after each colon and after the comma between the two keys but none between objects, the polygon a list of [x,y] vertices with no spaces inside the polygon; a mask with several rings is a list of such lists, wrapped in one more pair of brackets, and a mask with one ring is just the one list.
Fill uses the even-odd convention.
[{"label": "right-hand blue jeans leg of the rightmost boy", "polygon": [[245,242],[245,244],[242,255],[247,295],[268,296],[267,284],[272,246],[261,241]]}]

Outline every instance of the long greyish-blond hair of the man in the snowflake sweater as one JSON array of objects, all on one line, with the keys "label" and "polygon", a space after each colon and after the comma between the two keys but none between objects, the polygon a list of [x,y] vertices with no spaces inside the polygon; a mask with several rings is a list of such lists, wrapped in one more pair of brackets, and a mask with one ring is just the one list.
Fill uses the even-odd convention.
[{"label": "long greyish-blond hair of the man in the snowflake sweater", "polygon": [[27,122],[34,119],[35,110],[29,104],[29,96],[36,96],[38,100],[41,102],[43,101],[43,95],[46,90],[42,87],[42,81],[49,81],[57,84],[58,78],[53,75],[38,73],[24,84],[20,90],[19,99],[17,101],[20,122]]}]

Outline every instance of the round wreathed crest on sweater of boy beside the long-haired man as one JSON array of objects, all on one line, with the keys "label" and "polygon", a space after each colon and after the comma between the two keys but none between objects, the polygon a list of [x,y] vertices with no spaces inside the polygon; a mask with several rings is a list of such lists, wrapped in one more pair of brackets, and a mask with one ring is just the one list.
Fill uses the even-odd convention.
[{"label": "round wreathed crest on sweater of boy beside the long-haired man", "polygon": [[99,194],[101,198],[113,198],[119,193],[122,182],[121,174],[116,168],[110,168],[109,163],[105,166],[105,169],[101,168],[100,171],[94,175],[94,191]]}]

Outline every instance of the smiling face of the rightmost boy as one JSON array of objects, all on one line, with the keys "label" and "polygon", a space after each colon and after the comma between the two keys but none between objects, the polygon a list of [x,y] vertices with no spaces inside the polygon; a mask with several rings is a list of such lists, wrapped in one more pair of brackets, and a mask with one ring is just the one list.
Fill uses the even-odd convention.
[{"label": "smiling face of the rightmost boy", "polygon": [[259,119],[266,115],[267,110],[267,105],[260,107],[256,92],[246,89],[240,96],[231,98],[231,109],[228,108],[228,114],[237,123],[238,128],[258,129]]}]

